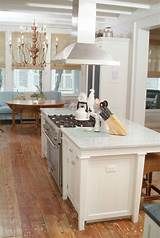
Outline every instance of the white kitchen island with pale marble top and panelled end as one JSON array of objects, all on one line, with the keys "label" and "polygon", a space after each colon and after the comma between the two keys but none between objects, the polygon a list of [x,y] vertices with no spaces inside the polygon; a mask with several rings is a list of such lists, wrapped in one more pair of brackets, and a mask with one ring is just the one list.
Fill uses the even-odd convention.
[{"label": "white kitchen island with pale marble top and panelled end", "polygon": [[160,134],[124,123],[127,136],[61,128],[62,196],[75,207],[79,230],[97,220],[131,217],[138,222],[145,154],[160,151]]}]

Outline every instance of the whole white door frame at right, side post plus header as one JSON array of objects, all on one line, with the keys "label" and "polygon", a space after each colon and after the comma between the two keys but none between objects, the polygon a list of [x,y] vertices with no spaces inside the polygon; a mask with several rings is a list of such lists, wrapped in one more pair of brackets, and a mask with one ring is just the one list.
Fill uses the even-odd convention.
[{"label": "whole white door frame at right, side post plus header", "polygon": [[160,11],[134,23],[129,119],[145,124],[150,30],[160,28]]}]

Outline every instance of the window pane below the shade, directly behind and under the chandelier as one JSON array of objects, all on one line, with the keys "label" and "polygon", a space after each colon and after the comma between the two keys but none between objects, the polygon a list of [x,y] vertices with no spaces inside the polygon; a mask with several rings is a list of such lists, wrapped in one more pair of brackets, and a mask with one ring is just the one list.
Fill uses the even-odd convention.
[{"label": "window pane below the shade, directly behind and under the chandelier", "polygon": [[14,70],[14,91],[36,92],[37,86],[40,86],[40,70]]}]

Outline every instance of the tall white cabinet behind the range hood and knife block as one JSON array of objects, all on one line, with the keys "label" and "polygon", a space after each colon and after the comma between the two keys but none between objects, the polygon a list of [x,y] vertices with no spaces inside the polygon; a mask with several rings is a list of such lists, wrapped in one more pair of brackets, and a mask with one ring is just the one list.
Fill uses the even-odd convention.
[{"label": "tall white cabinet behind the range hood and knife block", "polygon": [[129,39],[98,38],[97,45],[120,62],[120,66],[101,66],[100,99],[107,99],[111,110],[126,117]]}]

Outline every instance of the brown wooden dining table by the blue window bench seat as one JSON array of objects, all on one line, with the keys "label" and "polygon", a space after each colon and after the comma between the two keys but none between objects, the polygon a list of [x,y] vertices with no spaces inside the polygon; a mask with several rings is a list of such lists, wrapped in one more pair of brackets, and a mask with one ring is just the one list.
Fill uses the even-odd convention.
[{"label": "brown wooden dining table by the blue window bench seat", "polygon": [[21,115],[24,112],[32,113],[35,119],[35,125],[38,127],[40,119],[40,108],[63,108],[63,101],[45,100],[45,101],[33,101],[33,100],[12,100],[7,101],[7,105],[12,110],[12,127],[16,126],[16,115]]}]

